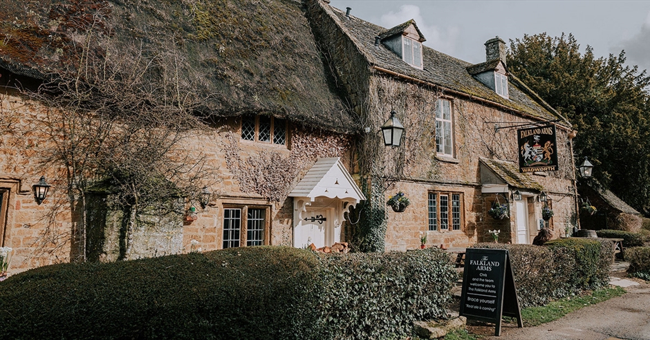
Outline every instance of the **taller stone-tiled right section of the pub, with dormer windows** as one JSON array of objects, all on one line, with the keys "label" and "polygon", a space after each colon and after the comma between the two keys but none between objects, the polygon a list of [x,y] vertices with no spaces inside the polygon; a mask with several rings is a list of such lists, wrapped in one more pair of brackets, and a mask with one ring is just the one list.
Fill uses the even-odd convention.
[{"label": "taller stone-tiled right section of the pub, with dormer windows", "polygon": [[[490,229],[501,230],[499,242],[531,243],[547,223],[545,205],[555,236],[577,225],[575,133],[508,72],[502,39],[487,41],[485,62],[472,65],[424,46],[413,20],[383,28],[326,0],[308,1],[308,17],[366,131],[355,152],[360,177],[373,183],[366,196],[378,202],[370,214],[399,191],[411,201],[405,212],[387,210],[386,249],[414,249],[420,233],[429,245],[465,247],[492,240]],[[386,149],[375,131],[391,111],[405,138]],[[519,172],[523,126],[555,126],[557,171]],[[509,218],[488,215],[494,202]]]}]

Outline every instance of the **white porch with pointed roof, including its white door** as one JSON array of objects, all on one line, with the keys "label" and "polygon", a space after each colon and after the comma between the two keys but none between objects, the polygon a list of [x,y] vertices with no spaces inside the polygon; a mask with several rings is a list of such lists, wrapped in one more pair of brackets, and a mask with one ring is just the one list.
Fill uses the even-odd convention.
[{"label": "white porch with pointed roof, including its white door", "polygon": [[293,197],[293,245],[341,242],[343,213],[366,197],[340,158],[319,158],[289,193]]}]

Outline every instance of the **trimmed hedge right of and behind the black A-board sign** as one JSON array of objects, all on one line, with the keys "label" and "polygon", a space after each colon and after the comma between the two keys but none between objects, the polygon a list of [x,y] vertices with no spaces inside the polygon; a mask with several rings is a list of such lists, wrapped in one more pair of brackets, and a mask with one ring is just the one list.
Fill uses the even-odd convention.
[{"label": "trimmed hedge right of and behind the black A-board sign", "polygon": [[521,308],[606,286],[614,256],[611,242],[597,238],[562,238],[544,246],[479,243],[474,247],[508,249]]}]

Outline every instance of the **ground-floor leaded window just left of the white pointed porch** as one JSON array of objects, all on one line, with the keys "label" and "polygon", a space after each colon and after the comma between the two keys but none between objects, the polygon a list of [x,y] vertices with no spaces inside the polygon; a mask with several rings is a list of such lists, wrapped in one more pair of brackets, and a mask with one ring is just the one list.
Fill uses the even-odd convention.
[{"label": "ground-floor leaded window just left of the white pointed porch", "polygon": [[268,208],[229,207],[223,209],[223,249],[267,243]]}]

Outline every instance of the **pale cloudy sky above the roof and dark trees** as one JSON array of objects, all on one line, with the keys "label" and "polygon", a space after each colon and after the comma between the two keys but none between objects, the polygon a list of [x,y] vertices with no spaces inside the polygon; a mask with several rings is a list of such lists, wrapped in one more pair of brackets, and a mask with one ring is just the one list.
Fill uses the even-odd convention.
[{"label": "pale cloudy sky above the roof and dark trees", "polygon": [[425,45],[472,64],[485,62],[488,39],[546,32],[573,33],[580,50],[596,57],[625,50],[627,62],[650,73],[650,1],[388,1],[331,0],[340,10],[391,28],[415,19]]}]

